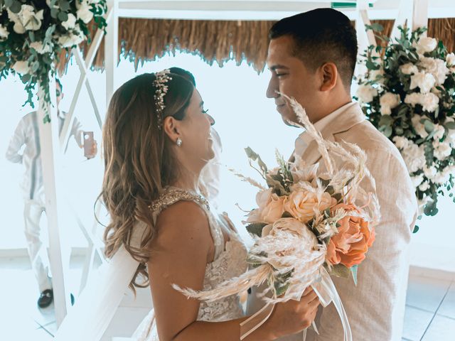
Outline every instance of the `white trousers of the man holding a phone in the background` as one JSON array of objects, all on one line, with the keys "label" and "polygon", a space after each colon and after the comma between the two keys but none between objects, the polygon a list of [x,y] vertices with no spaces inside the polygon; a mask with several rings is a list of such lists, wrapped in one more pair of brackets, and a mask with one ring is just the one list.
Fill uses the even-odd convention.
[{"label": "white trousers of the man holding a phone in the background", "polygon": [[28,256],[30,256],[31,268],[36,276],[36,281],[38,281],[40,293],[52,288],[52,282],[48,276],[48,254],[41,240],[40,220],[43,212],[45,212],[43,202],[26,200],[23,219],[25,223]]}]

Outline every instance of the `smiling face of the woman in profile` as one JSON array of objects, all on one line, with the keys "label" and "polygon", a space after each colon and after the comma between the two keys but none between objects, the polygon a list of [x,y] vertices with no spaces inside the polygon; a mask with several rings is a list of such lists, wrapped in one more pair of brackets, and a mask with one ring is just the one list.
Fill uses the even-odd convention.
[{"label": "smiling face of the woman in profile", "polygon": [[203,100],[198,90],[193,91],[186,116],[180,122],[182,145],[179,148],[192,163],[205,164],[215,157],[210,137],[210,126],[213,118],[203,107]]}]

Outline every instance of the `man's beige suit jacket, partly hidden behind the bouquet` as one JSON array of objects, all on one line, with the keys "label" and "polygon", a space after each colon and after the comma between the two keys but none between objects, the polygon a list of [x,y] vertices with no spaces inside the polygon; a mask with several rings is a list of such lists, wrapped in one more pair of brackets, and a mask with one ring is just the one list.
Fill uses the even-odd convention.
[{"label": "man's beige suit jacket, partly hidden behind the bouquet", "polygon": [[[400,151],[365,119],[356,102],[339,108],[316,122],[324,139],[356,144],[367,155],[374,183],[362,187],[375,192],[380,202],[381,220],[376,239],[358,267],[358,284],[332,277],[343,302],[353,332],[353,341],[400,341],[405,314],[409,243],[417,218],[417,200],[410,175]],[[295,155],[307,164],[321,158],[316,143],[306,133],[296,140]],[[322,164],[321,164],[322,166]],[[247,313],[255,313],[262,301],[250,294]],[[309,341],[343,341],[343,327],[333,304],[323,308],[318,318],[319,335],[309,332]],[[299,340],[301,333],[280,340]]]}]

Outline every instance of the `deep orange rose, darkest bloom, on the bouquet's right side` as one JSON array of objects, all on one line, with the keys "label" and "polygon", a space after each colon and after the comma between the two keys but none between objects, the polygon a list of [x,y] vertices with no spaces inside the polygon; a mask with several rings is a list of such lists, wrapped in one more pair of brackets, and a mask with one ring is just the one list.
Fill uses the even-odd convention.
[{"label": "deep orange rose, darkest bloom, on the bouquet's right side", "polygon": [[[350,204],[336,205],[332,212],[339,208],[347,212],[358,212],[358,208]],[[338,233],[331,237],[328,243],[326,261],[332,265],[343,264],[348,268],[360,264],[375,241],[375,229],[370,230],[368,222],[363,218],[350,215],[338,220],[338,224]]]}]

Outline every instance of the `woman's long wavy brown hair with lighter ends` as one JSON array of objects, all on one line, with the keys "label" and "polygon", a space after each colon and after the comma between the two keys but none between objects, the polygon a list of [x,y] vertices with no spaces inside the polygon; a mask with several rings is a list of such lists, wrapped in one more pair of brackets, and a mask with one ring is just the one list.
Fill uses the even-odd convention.
[{"label": "woman's long wavy brown hair with lighter ends", "polygon": [[[170,76],[163,118],[172,116],[182,120],[194,86],[186,77],[174,73]],[[155,236],[149,205],[166,185],[176,180],[179,169],[171,149],[173,142],[158,128],[155,79],[153,73],[139,75],[119,87],[109,103],[102,131],[105,175],[100,197],[110,215],[104,234],[105,254],[110,258],[124,245],[139,261],[129,284],[133,291],[134,287],[149,285],[147,246]],[[134,247],[131,240],[138,221],[144,222],[147,229],[140,246]]]}]

